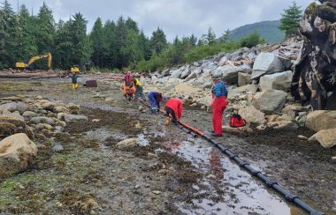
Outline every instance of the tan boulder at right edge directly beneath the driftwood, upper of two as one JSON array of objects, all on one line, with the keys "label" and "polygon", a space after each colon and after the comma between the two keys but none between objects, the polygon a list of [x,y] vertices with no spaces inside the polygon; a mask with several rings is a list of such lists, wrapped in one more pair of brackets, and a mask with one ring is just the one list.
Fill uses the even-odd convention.
[{"label": "tan boulder at right edge directly beneath the driftwood, upper of two", "polygon": [[306,127],[315,131],[336,128],[336,110],[316,110],[309,113]]}]

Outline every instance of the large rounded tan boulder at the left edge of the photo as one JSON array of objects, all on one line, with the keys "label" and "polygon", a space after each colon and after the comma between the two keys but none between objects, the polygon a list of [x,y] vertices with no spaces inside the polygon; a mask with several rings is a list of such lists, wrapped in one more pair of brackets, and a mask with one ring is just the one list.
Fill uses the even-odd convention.
[{"label": "large rounded tan boulder at the left edge of the photo", "polygon": [[26,134],[19,133],[0,142],[0,178],[18,174],[34,163],[37,147]]}]

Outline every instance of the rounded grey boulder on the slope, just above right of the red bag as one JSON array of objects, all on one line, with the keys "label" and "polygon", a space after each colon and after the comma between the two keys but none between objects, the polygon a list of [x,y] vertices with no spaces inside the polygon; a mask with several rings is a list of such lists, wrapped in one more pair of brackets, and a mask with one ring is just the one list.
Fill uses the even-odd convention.
[{"label": "rounded grey boulder on the slope, just above right of the red bag", "polygon": [[278,90],[266,90],[256,93],[253,97],[253,105],[266,114],[280,112],[286,103],[287,93]]}]

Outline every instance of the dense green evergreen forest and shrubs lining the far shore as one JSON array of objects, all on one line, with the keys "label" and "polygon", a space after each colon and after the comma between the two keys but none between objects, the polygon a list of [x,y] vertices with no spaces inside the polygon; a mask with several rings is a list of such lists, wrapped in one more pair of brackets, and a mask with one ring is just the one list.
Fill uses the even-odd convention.
[{"label": "dense green evergreen forest and shrubs lining the far shore", "polygon": [[[259,33],[247,35],[241,41],[229,41],[229,31],[218,40],[209,28],[199,39],[194,34],[176,36],[171,43],[163,29],[157,27],[148,37],[133,19],[122,16],[104,23],[96,19],[90,33],[87,25],[80,12],[67,21],[56,22],[44,3],[33,15],[24,4],[14,12],[5,0],[0,5],[0,69],[14,68],[16,62],[27,63],[32,56],[50,52],[54,70],[90,63],[96,70],[147,72],[264,42]],[[37,61],[34,67],[45,69],[46,63]]]}]

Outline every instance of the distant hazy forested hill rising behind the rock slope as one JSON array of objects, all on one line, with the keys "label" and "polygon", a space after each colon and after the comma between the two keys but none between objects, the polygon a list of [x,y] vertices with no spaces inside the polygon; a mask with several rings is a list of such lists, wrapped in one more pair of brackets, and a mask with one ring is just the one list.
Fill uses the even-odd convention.
[{"label": "distant hazy forested hill rising behind the rock slope", "polygon": [[267,43],[279,43],[284,41],[285,33],[279,30],[280,21],[263,21],[254,24],[240,26],[231,32],[230,38],[234,41],[241,40],[250,33],[257,31]]}]

